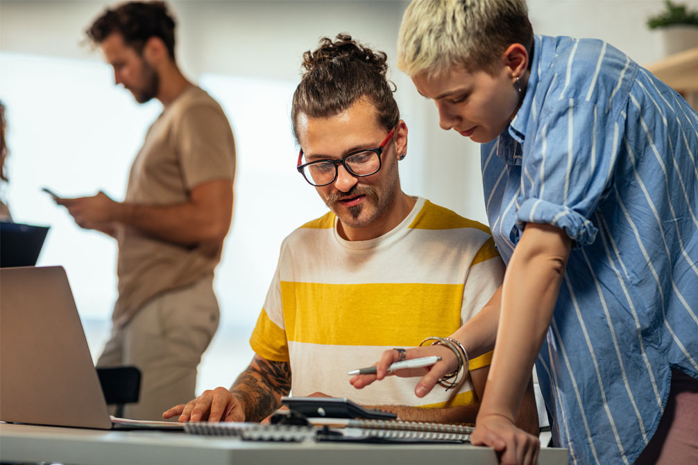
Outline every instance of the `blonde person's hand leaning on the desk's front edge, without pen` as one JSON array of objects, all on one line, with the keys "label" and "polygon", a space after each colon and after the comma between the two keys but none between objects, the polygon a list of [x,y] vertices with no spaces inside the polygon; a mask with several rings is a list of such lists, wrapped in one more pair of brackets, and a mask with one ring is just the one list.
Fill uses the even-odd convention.
[{"label": "blonde person's hand leaning on the desk's front edge, without pen", "polygon": [[517,428],[512,420],[502,415],[478,415],[475,432],[470,435],[470,443],[487,445],[499,452],[502,465],[538,463],[540,451],[538,438]]}]

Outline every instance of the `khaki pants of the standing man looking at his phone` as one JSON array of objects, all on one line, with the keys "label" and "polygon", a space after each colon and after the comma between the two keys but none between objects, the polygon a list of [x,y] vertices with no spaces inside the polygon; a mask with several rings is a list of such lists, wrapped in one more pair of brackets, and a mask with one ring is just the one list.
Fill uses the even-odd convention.
[{"label": "khaki pants of the standing man looking at his phone", "polygon": [[[98,367],[135,365],[142,372],[140,401],[126,418],[162,420],[163,411],[193,399],[196,367],[218,328],[211,277],[150,300],[112,337]],[[174,418],[177,420],[177,418]]]}]

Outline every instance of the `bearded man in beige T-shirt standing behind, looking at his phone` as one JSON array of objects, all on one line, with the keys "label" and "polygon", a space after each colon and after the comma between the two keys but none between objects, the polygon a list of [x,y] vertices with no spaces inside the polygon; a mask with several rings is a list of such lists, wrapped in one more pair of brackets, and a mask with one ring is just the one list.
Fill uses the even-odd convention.
[{"label": "bearded man in beige T-shirt standing behind, looking at his phone", "polygon": [[97,365],[140,368],[140,402],[125,415],[152,420],[193,397],[197,365],[218,327],[213,277],[232,218],[235,141],[220,105],[181,74],[165,3],[107,8],[87,37],[116,84],[139,103],[163,104],[123,202],[103,192],[56,199],[80,227],[117,239],[119,297]]}]

